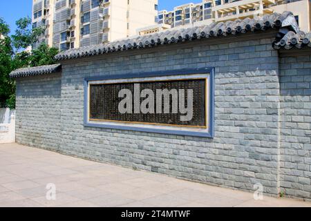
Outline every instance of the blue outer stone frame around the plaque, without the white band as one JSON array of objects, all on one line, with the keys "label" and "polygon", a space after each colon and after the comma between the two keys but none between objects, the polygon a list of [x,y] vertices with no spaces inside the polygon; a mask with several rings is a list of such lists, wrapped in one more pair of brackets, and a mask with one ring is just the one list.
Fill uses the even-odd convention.
[{"label": "blue outer stone frame around the plaque, without the white band", "polygon": [[[210,75],[209,84],[209,131],[196,132],[196,131],[178,131],[176,130],[165,130],[162,128],[142,128],[138,126],[123,126],[123,125],[111,125],[111,124],[95,124],[93,122],[88,122],[88,81],[101,81],[109,79],[131,79],[140,77],[164,77],[173,75],[194,75],[194,74],[205,74]],[[215,121],[215,69],[214,68],[198,68],[198,69],[182,69],[182,70],[165,70],[162,72],[151,72],[151,73],[135,73],[135,74],[124,74],[124,75],[114,75],[114,76],[98,76],[98,77],[86,77],[84,79],[84,126],[86,127],[96,127],[96,128],[109,128],[116,130],[126,130],[126,131],[140,131],[149,133],[162,133],[170,135],[184,135],[193,137],[207,137],[214,138],[214,121]]]}]

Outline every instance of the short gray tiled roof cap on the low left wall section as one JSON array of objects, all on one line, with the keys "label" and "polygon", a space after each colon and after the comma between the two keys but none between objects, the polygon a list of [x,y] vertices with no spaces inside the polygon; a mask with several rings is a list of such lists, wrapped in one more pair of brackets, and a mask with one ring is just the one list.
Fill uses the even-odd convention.
[{"label": "short gray tiled roof cap on the low left wall section", "polygon": [[10,77],[28,77],[28,76],[35,76],[35,75],[45,75],[50,73],[55,73],[61,70],[60,64],[52,64],[47,66],[38,66],[32,68],[19,68],[17,70],[13,70],[10,73]]}]

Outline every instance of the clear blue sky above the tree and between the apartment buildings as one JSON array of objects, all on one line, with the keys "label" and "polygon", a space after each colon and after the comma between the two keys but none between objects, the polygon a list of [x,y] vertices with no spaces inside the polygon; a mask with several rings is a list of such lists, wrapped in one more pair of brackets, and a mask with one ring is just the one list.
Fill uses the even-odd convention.
[{"label": "clear blue sky above the tree and between the apartment buildings", "polygon": [[[174,6],[189,2],[198,3],[200,1],[202,0],[159,0],[159,10],[172,10]],[[13,32],[16,28],[15,21],[17,19],[27,15],[30,17],[31,7],[32,0],[0,0],[0,17],[9,24],[11,32]]]}]

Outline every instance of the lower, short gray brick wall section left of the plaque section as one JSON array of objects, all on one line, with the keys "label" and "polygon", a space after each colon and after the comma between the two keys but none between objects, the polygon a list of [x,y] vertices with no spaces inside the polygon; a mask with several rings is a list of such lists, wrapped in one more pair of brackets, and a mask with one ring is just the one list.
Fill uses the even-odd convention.
[{"label": "lower, short gray brick wall section left of the plaque section", "polygon": [[17,78],[16,142],[58,151],[61,73]]}]

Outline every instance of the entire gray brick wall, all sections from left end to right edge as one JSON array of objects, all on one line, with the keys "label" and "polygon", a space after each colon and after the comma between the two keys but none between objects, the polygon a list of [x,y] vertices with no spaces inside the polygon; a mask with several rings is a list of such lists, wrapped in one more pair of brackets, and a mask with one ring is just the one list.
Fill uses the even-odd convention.
[{"label": "entire gray brick wall, all sections from left end to right edge", "polygon": [[[208,41],[64,61],[62,77],[17,79],[17,142],[270,195],[310,198],[311,57],[272,39]],[[216,70],[214,139],[84,126],[84,78]]]}]

